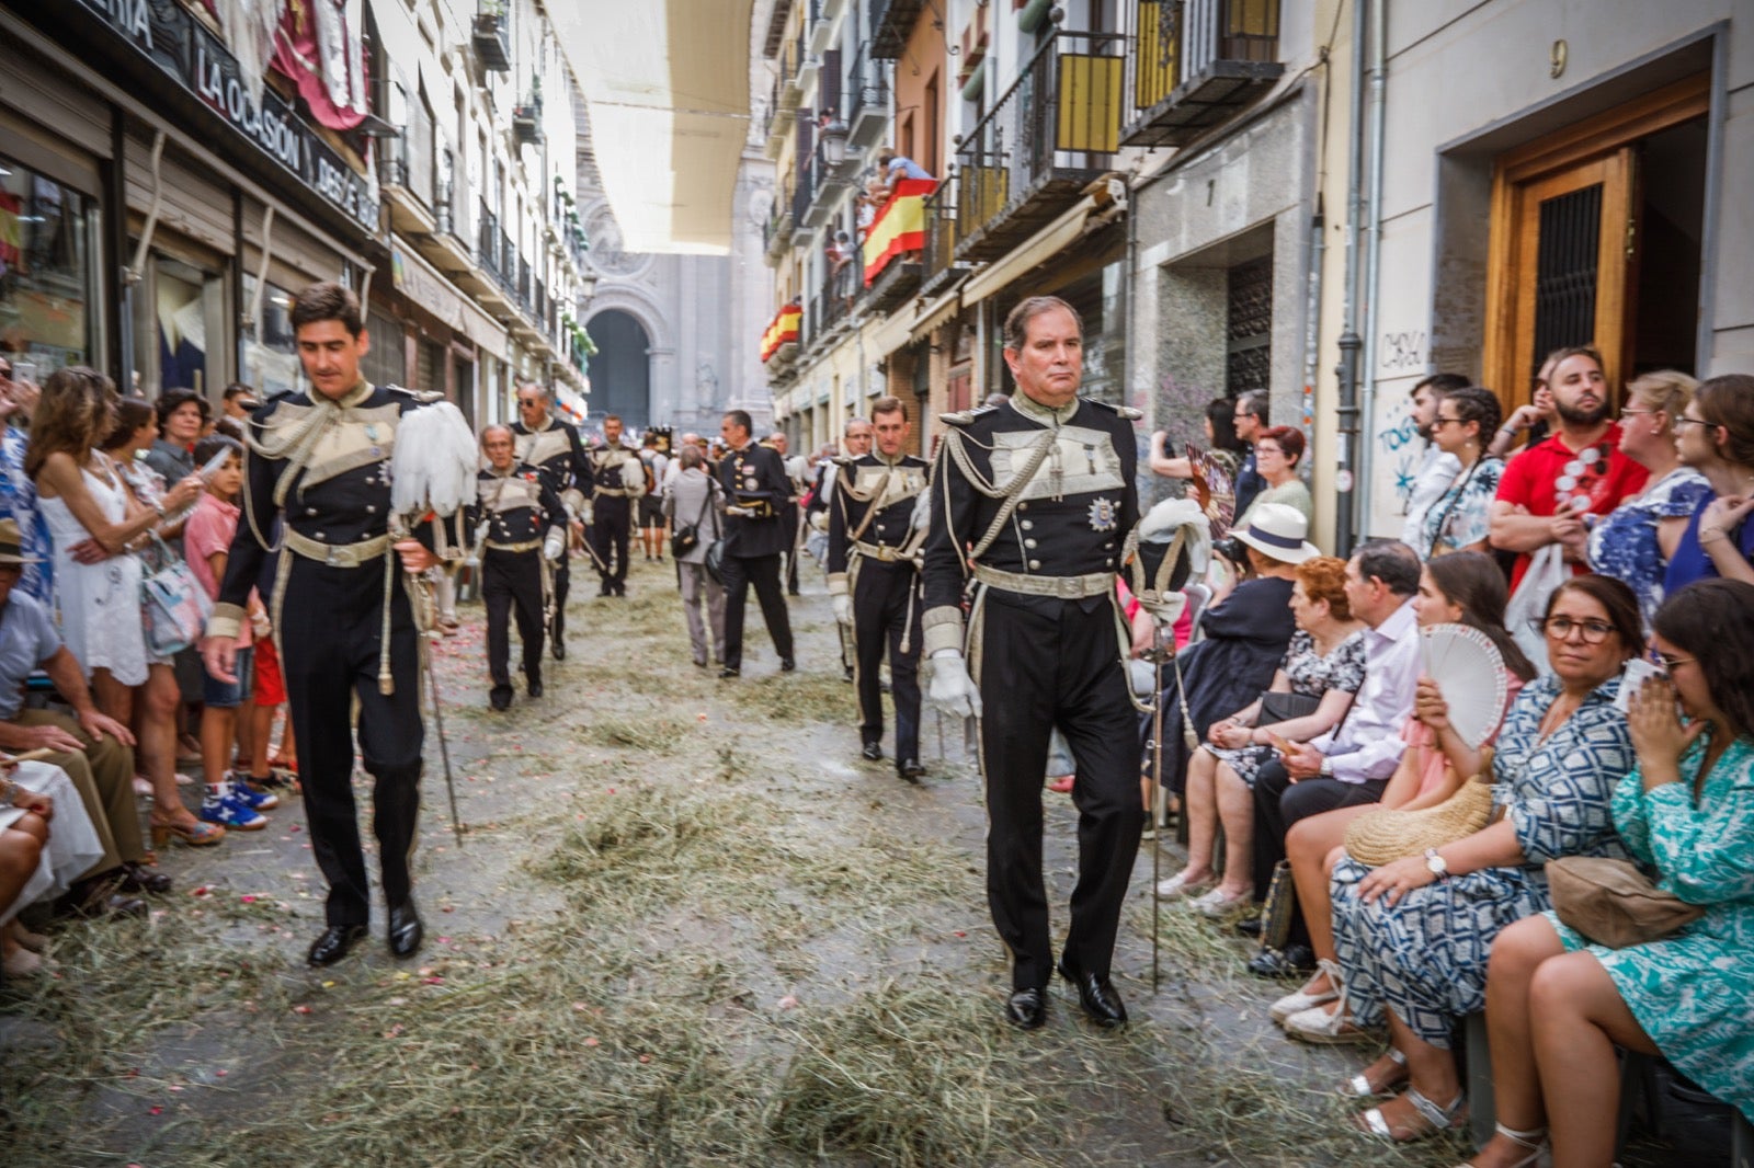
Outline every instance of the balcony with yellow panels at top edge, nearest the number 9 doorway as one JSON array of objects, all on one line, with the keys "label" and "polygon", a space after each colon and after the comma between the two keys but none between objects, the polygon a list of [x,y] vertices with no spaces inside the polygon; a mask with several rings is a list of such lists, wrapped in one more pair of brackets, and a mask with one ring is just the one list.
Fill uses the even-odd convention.
[{"label": "balcony with yellow panels at top edge, nearest the number 9 doorway", "polygon": [[1137,0],[1123,146],[1186,146],[1265,95],[1279,61],[1279,0]]}]

